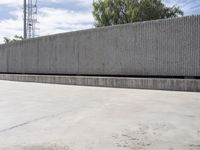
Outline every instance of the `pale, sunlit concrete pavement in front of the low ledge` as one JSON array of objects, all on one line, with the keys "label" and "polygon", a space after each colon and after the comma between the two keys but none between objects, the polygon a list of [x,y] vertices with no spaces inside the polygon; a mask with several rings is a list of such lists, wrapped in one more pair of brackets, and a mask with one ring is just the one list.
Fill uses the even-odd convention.
[{"label": "pale, sunlit concrete pavement in front of the low ledge", "polygon": [[200,93],[0,81],[0,150],[199,150]]}]

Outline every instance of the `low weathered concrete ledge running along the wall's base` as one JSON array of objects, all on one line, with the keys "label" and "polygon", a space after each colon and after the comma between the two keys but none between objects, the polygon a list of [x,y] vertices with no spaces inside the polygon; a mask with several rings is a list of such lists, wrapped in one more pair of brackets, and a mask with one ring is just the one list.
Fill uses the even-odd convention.
[{"label": "low weathered concrete ledge running along the wall's base", "polygon": [[0,74],[0,80],[113,88],[200,92],[200,79]]}]

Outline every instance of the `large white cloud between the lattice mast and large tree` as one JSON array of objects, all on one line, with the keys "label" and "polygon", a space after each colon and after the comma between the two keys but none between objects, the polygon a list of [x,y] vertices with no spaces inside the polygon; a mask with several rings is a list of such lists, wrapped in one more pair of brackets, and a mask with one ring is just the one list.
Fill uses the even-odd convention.
[{"label": "large white cloud between the lattice mast and large tree", "polygon": [[75,31],[93,27],[93,16],[89,12],[74,12],[63,9],[42,8],[39,12],[40,35]]}]

